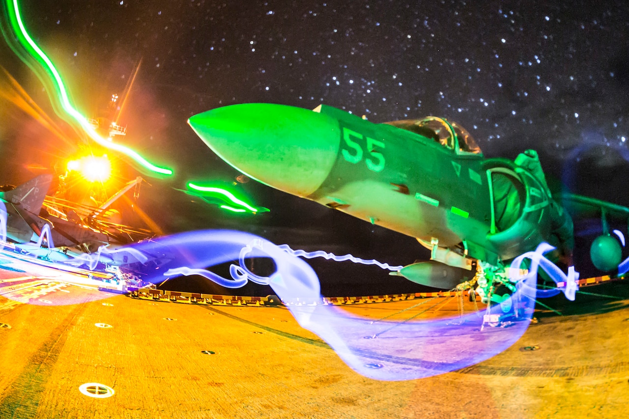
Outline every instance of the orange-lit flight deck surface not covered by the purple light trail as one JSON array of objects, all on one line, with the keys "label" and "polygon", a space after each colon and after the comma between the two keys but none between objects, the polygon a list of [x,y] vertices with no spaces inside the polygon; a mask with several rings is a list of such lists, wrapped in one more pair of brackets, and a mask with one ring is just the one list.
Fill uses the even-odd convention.
[{"label": "orange-lit flight deck surface not covered by the purple light trail", "polygon": [[[31,293],[41,305],[0,310],[0,323],[11,325],[0,328],[0,418],[628,415],[628,300],[582,315],[540,313],[540,322],[520,341],[481,364],[426,379],[382,382],[345,366],[281,306],[206,306],[118,295],[89,301],[102,293],[56,285],[11,294]],[[70,298],[87,302],[55,305]],[[0,309],[9,301],[0,297]],[[412,304],[416,301],[345,310],[381,318]],[[456,315],[457,301],[441,310]],[[540,349],[521,350],[533,345]],[[105,384],[116,393],[89,398],[79,393],[84,383]]]}]

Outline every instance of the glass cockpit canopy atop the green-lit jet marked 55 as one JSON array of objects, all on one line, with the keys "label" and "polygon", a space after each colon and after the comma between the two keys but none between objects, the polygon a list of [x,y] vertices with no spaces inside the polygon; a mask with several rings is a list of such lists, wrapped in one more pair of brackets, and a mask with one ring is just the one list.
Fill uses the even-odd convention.
[{"label": "glass cockpit canopy atop the green-lit jet marked 55", "polygon": [[465,128],[455,122],[437,118],[437,116],[426,116],[421,120],[386,122],[386,124],[414,132],[422,137],[431,138],[444,147],[456,149],[459,154],[482,155],[481,147]]}]

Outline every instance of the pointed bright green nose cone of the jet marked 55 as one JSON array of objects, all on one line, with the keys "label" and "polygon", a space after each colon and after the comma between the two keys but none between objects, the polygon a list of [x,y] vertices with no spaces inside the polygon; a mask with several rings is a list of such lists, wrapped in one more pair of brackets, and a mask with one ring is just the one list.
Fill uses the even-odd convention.
[{"label": "pointed bright green nose cone of the jet marked 55", "polygon": [[340,146],[337,120],[294,106],[237,104],[194,115],[188,123],[235,169],[298,196],[321,186]]}]

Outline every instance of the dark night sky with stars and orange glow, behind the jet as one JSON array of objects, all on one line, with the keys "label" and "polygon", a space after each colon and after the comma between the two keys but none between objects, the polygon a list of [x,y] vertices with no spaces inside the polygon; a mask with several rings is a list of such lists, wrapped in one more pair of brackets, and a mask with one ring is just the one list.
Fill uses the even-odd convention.
[{"label": "dark night sky with stars and orange glow, behind the jet", "polygon": [[[237,228],[391,264],[427,259],[413,238],[253,181],[233,185],[238,172],[186,120],[248,102],[325,103],[374,122],[443,116],[465,126],[487,157],[535,148],[555,188],[562,181],[572,192],[629,204],[624,1],[25,0],[21,11],[87,116],[102,114],[139,65],[120,121],[126,144],[175,169],[171,179],[148,179],[152,186],[139,203],[167,232]],[[65,129],[42,83],[4,42],[0,59]],[[33,167],[52,167],[74,151],[0,103],[6,182],[26,181],[39,173]],[[120,170],[136,176],[128,166]],[[191,202],[175,190],[187,181],[231,185],[270,213],[237,216]],[[313,262],[324,292],[417,289],[377,268],[345,264]]]}]

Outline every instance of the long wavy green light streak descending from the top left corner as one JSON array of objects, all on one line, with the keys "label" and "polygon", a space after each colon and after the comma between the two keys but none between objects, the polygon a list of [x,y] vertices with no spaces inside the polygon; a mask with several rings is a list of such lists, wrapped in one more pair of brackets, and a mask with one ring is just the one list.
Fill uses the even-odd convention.
[{"label": "long wavy green light streak descending from the top left corner", "polygon": [[[99,145],[109,148],[110,150],[114,150],[122,154],[125,154],[126,156],[135,160],[135,162],[137,162],[138,164],[145,167],[145,169],[148,169],[152,172],[159,173],[159,174],[172,175],[172,170],[153,165],[150,162],[148,162],[148,160],[144,159],[141,155],[137,154],[135,151],[131,150],[130,148],[125,147],[120,144],[113,143],[101,137],[100,135],[98,135],[98,133],[94,130],[94,128],[92,128],[92,126],[89,125],[86,117],[81,115],[81,113],[72,106],[72,104],[70,103],[70,99],[68,98],[68,94],[65,89],[64,83],[61,80],[61,76],[59,75],[57,69],[52,64],[52,61],[48,59],[47,55],[43,53],[43,51],[36,45],[35,42],[33,42],[30,35],[28,35],[28,33],[26,32],[26,28],[24,24],[22,23],[22,19],[19,14],[18,1],[8,0],[7,6],[9,8],[9,13],[11,12],[14,13],[13,16],[9,17],[9,20],[11,21],[11,25],[13,26],[14,32],[18,36],[18,40],[22,43],[22,45],[26,48],[26,50],[29,50],[31,52],[31,55],[33,55],[33,57],[35,57],[35,59],[37,59],[40,62],[40,64],[42,64],[44,68],[47,69],[48,72],[50,72],[50,75],[52,75],[52,79],[55,84],[55,88],[57,89],[58,98],[59,98],[62,108],[69,116],[72,117],[72,119],[74,119],[81,126],[81,128],[84,131],[86,131],[87,135],[89,135],[89,137],[91,137],[92,140],[94,140]],[[32,54],[33,52],[35,54]]]}]

